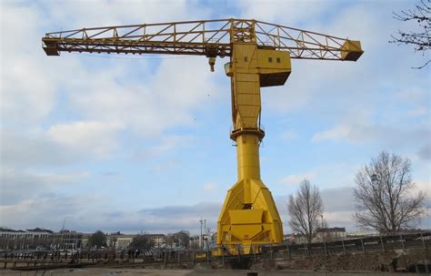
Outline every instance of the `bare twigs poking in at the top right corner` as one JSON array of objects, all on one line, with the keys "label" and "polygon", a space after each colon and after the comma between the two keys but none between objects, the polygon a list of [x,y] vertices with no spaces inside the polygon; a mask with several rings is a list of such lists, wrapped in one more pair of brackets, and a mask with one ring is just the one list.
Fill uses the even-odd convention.
[{"label": "bare twigs poking in at the top right corner", "polygon": [[[431,0],[421,0],[420,4],[415,6],[415,9],[401,11],[400,14],[394,13],[394,18],[400,21],[416,21],[419,29],[418,31],[401,31],[398,30],[396,36],[392,36],[389,43],[396,43],[398,45],[413,45],[416,52],[425,52],[431,49]],[[414,67],[421,69],[431,62],[428,59],[423,66]]]}]

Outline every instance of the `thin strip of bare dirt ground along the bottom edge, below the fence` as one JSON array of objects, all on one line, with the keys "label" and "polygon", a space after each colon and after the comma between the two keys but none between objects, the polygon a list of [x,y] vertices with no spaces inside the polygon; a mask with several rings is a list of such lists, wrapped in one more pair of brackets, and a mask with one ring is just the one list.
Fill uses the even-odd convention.
[{"label": "thin strip of bare dirt ground along the bottom edge, below the fence", "polygon": [[[5,276],[198,276],[198,275],[222,275],[222,276],[240,276],[247,275],[251,271],[224,271],[224,270],[199,270],[199,271],[186,271],[186,270],[145,270],[145,269],[104,269],[104,268],[91,268],[91,269],[66,269],[54,271],[0,271],[0,275]],[[384,272],[314,272],[314,271],[252,271],[257,272],[258,276],[299,276],[299,275],[313,275],[313,276],[399,276],[399,273],[384,273]],[[415,273],[403,273],[403,275],[417,275]]]}]

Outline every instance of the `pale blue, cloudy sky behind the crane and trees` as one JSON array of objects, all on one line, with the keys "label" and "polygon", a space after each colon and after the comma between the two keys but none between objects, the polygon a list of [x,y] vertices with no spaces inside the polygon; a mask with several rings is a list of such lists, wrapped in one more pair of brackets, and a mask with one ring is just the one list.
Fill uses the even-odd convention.
[{"label": "pale blue, cloudy sky behind the crane and trees", "polygon": [[[361,41],[354,62],[292,60],[262,88],[261,175],[286,233],[302,179],[329,227],[352,219],[358,169],[382,150],[409,158],[431,206],[429,58],[389,44],[414,1],[1,1],[0,226],[135,233],[216,230],[236,182],[230,81],[205,56],[45,56],[47,32],[254,18]],[[428,211],[428,214],[430,212]],[[430,215],[417,226],[431,228]]]}]

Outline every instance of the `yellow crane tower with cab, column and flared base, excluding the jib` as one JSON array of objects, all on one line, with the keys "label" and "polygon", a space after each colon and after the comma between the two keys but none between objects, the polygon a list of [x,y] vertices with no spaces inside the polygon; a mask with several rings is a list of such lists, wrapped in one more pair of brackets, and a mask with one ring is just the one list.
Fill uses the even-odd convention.
[{"label": "yellow crane tower with cab, column and flared base, excluding the jib", "polygon": [[281,243],[282,221],[269,189],[260,178],[260,87],[283,85],[290,74],[285,52],[258,49],[254,43],[234,45],[226,66],[231,79],[232,118],[238,181],[227,191],[217,221],[217,245],[231,253],[249,254],[257,245]]}]

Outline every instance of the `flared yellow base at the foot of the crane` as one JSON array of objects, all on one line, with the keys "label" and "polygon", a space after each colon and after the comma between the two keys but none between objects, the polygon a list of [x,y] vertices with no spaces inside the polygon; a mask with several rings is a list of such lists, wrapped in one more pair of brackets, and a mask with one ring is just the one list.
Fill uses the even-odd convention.
[{"label": "flared yellow base at the foot of the crane", "polygon": [[256,252],[257,245],[283,242],[276,203],[260,179],[242,179],[227,191],[217,222],[217,245],[231,254]]}]

